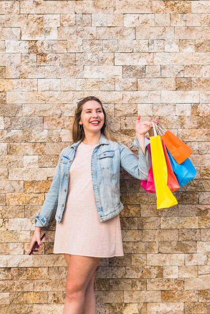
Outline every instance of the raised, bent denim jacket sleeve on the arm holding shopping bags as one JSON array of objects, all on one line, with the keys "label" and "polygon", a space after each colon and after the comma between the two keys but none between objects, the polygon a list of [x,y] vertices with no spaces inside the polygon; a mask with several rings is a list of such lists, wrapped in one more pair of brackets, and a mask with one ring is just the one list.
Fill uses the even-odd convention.
[{"label": "raised, bent denim jacket sleeve on the arm holding shopping bags", "polygon": [[129,147],[137,146],[139,148],[139,158],[129,149],[126,145],[124,148],[121,146],[121,167],[125,169],[130,175],[139,179],[147,180],[148,172],[150,169],[149,152],[147,145],[149,144],[149,139],[145,137],[145,154],[139,145],[137,137],[134,138],[132,145]]}]

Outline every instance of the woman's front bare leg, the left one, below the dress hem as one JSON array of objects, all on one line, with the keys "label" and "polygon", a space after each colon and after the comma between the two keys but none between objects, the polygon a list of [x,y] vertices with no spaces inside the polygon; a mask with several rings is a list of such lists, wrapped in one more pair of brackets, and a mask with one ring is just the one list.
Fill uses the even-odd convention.
[{"label": "woman's front bare leg, the left one, below the dress hem", "polygon": [[86,307],[85,291],[92,279],[92,276],[94,275],[100,261],[100,257],[70,254],[64,254],[64,256],[68,264],[68,272],[66,278],[66,298],[63,314],[83,314],[84,305]]}]

